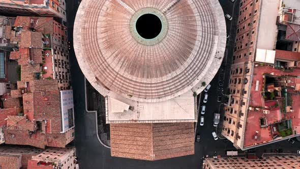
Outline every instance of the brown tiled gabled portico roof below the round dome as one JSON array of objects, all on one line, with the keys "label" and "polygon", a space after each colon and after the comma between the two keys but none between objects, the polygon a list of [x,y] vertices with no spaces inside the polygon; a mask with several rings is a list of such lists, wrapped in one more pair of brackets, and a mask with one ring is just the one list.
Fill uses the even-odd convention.
[{"label": "brown tiled gabled portico roof below the round dome", "polygon": [[194,123],[110,124],[111,156],[159,160],[194,154]]}]

